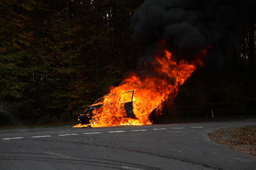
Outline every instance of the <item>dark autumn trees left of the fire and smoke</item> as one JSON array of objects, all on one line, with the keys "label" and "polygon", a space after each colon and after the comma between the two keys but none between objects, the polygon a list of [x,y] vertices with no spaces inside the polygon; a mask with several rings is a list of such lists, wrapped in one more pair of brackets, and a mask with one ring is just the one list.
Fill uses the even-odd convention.
[{"label": "dark autumn trees left of the fire and smoke", "polygon": [[9,123],[74,119],[135,68],[141,51],[134,50],[129,24],[138,3],[99,1],[97,11],[95,3],[0,1],[0,102]]}]

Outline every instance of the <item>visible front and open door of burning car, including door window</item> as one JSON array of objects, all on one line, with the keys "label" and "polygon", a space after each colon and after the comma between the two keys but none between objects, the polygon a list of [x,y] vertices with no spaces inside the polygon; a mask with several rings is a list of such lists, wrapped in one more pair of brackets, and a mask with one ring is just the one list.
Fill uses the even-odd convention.
[{"label": "visible front and open door of burning car, including door window", "polygon": [[[120,107],[124,109],[126,113],[122,117],[122,119],[125,119],[125,118],[136,119],[136,116],[134,115],[134,112],[133,112],[133,98],[134,98],[134,90],[126,91],[122,93],[122,95],[119,97],[118,102],[120,103]],[[93,118],[95,111],[99,110],[99,108],[102,108],[104,105],[104,102],[107,102],[108,105],[111,105],[112,104],[111,102],[113,102],[113,99],[116,99],[116,94],[107,94],[101,97],[100,99],[97,99],[92,105],[86,108],[85,111],[83,111],[79,115],[78,120],[80,124],[88,125],[88,124],[93,124],[93,122],[96,122],[96,120]]]}]

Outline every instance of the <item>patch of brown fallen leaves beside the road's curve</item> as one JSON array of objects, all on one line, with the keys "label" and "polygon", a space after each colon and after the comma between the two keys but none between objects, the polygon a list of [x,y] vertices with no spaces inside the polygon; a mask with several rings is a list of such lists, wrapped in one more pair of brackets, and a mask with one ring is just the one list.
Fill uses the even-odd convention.
[{"label": "patch of brown fallen leaves beside the road's curve", "polygon": [[230,149],[256,156],[256,125],[219,129],[208,133],[208,137]]}]

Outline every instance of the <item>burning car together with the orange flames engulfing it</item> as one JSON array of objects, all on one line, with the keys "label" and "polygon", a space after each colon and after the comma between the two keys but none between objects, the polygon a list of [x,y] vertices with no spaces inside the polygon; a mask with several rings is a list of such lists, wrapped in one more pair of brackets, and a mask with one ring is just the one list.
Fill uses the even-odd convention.
[{"label": "burning car together with the orange flames engulfing it", "polygon": [[177,62],[168,50],[156,54],[154,63],[157,67],[147,70],[150,76],[130,73],[119,86],[110,87],[110,94],[96,100],[83,111],[78,118],[80,123],[73,127],[151,125],[161,122],[167,114],[165,101],[167,104],[173,101],[180,85],[198,66],[203,65],[202,59],[206,54],[207,49],[203,49],[192,62]]}]

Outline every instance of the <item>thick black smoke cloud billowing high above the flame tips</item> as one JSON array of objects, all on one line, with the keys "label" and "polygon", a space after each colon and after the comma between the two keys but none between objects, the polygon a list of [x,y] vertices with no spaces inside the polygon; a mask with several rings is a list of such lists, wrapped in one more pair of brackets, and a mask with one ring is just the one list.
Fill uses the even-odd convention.
[{"label": "thick black smoke cloud billowing high above the flame tips", "polygon": [[238,41],[239,19],[250,16],[255,5],[255,0],[145,0],[132,18],[133,38],[150,48],[164,39],[186,59],[210,46],[221,61],[222,50]]}]

